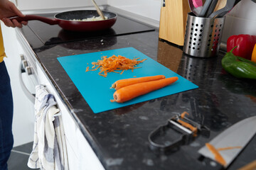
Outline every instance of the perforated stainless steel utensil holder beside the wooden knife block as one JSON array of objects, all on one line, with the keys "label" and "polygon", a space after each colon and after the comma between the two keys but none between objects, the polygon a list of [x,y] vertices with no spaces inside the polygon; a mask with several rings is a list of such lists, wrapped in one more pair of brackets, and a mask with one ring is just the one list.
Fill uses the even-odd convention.
[{"label": "perforated stainless steel utensil holder beside the wooden knife block", "polygon": [[188,13],[183,52],[193,57],[218,54],[225,17],[202,18]]}]

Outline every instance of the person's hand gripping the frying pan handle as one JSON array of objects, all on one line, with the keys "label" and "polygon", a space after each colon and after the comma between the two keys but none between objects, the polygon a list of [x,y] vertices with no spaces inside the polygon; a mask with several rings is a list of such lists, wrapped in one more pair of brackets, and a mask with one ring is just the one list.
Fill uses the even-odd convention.
[{"label": "person's hand gripping the frying pan handle", "polygon": [[11,16],[20,16],[24,17],[23,13],[16,8],[15,4],[9,0],[0,0],[0,19],[8,27],[18,27],[21,28],[23,25],[28,24],[27,21],[18,22],[16,19],[10,20]]}]

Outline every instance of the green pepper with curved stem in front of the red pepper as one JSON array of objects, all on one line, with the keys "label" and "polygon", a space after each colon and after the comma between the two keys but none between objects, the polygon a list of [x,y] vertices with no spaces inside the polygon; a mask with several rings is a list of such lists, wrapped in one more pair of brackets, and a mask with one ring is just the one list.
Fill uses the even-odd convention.
[{"label": "green pepper with curved stem in front of the red pepper", "polygon": [[233,47],[230,52],[227,52],[221,60],[225,71],[229,72],[234,77],[256,79],[256,63],[234,55],[234,49],[235,47]]}]

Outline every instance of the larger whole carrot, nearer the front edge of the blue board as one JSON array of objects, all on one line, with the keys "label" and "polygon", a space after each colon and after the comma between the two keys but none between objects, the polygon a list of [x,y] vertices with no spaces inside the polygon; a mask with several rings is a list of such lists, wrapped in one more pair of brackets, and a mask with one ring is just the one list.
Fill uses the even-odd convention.
[{"label": "larger whole carrot, nearer the front edge of the blue board", "polygon": [[118,103],[123,103],[125,101],[129,101],[132,98],[136,98],[137,96],[142,96],[151,91],[155,91],[157,89],[161,89],[164,86],[168,86],[169,84],[174,83],[178,80],[178,77],[170,77],[167,79],[159,79],[155,81],[147,81],[138,84],[132,84],[129,86],[124,86],[121,89],[118,89],[114,92],[114,99],[111,101],[116,101]]}]

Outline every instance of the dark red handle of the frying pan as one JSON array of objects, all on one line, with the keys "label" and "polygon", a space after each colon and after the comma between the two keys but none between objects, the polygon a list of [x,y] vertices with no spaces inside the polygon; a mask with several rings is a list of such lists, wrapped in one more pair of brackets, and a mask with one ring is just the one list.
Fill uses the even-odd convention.
[{"label": "dark red handle of the frying pan", "polygon": [[43,17],[43,16],[35,16],[35,15],[26,15],[24,17],[14,16],[14,17],[11,17],[9,19],[11,19],[11,21],[13,19],[16,19],[18,22],[38,20],[38,21],[42,21],[43,23],[48,23],[50,25],[55,25],[55,24],[59,23],[59,21],[56,20],[56,19],[46,18],[46,17]]}]

